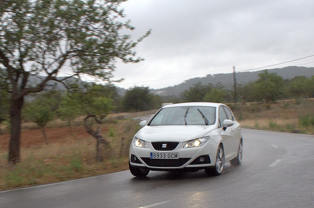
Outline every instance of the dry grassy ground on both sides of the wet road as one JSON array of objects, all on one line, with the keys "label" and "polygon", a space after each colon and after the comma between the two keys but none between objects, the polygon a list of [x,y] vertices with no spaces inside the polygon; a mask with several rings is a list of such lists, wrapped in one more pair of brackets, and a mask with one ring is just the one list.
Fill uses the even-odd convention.
[{"label": "dry grassy ground on both sides of the wet road", "polygon": [[[242,128],[314,134],[314,100],[281,101],[274,104],[229,105]],[[0,189],[39,185],[128,170],[129,146],[140,129],[131,117],[150,115],[157,110],[108,116],[101,133],[110,143],[102,146],[103,162],[96,162],[96,139],[88,135],[81,118],[68,127],[55,120],[41,129],[24,123],[21,135],[21,162],[8,164],[10,135],[5,126],[0,134]],[[96,125],[95,125],[96,126]]]}]

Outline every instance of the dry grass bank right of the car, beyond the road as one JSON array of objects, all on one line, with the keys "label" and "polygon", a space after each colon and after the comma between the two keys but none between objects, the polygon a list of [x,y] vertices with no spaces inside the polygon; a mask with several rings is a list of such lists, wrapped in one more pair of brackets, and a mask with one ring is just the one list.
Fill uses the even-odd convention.
[{"label": "dry grass bank right of the car, beyond the road", "polygon": [[231,107],[243,128],[314,134],[314,125],[310,121],[303,122],[304,116],[314,116],[313,99]]}]

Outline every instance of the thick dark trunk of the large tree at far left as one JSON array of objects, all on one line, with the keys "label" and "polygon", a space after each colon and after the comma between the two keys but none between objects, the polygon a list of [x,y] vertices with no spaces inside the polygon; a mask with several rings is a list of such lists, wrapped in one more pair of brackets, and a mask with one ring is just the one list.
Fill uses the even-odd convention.
[{"label": "thick dark trunk of the large tree at far left", "polygon": [[21,136],[21,115],[24,97],[11,99],[10,119],[11,119],[11,137],[9,144],[9,162],[20,162],[20,136]]}]

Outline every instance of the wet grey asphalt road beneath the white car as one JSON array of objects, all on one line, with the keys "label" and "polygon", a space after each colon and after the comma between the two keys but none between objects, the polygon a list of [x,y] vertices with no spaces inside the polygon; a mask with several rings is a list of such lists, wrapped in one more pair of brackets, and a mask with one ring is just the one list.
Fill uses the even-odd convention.
[{"label": "wet grey asphalt road beneath the white car", "polygon": [[314,136],[242,130],[243,162],[218,177],[129,171],[0,192],[0,208],[313,208]]}]

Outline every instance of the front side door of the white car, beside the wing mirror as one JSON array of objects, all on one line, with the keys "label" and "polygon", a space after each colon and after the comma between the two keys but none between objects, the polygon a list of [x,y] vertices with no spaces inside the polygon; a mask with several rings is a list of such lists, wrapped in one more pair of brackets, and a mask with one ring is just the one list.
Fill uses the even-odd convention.
[{"label": "front side door of the white car, beside the wing mirror", "polygon": [[[218,113],[218,119],[219,119],[219,127],[222,129],[223,128],[223,121],[225,119],[228,119],[226,112],[223,108],[223,106],[219,107],[219,113]],[[232,126],[231,126],[232,127]],[[226,130],[221,131],[221,136],[222,136],[222,142],[224,146],[224,151],[225,151],[225,160],[228,161],[234,157],[234,142],[235,139],[232,134],[232,128],[228,127]]]}]

